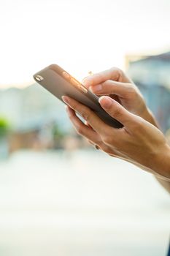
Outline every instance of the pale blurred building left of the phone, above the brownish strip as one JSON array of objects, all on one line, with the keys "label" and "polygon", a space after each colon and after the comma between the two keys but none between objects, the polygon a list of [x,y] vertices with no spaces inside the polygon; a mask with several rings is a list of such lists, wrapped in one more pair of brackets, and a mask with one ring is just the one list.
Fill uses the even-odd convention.
[{"label": "pale blurred building left of the phone, above the brownish strip", "polygon": [[70,122],[63,104],[37,83],[25,89],[0,90],[0,116],[7,118],[13,129],[31,129],[55,121],[66,131]]}]

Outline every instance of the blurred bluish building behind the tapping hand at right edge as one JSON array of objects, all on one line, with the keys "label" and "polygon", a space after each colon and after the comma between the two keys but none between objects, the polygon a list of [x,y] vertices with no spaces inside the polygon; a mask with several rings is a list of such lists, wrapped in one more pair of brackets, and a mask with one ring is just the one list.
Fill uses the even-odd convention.
[{"label": "blurred bluish building behind the tapping hand at right edge", "polygon": [[163,132],[170,127],[170,52],[156,56],[126,56],[134,80],[158,119]]}]

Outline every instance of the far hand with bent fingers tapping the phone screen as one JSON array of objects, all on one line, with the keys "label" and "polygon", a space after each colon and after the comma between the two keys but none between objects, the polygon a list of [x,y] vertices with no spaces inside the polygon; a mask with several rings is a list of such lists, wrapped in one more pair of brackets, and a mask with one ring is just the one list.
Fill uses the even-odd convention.
[{"label": "far hand with bent fingers tapping the phone screen", "polygon": [[112,97],[131,113],[141,116],[158,127],[141,92],[122,70],[113,67],[90,75],[82,80],[82,84],[98,96],[108,95]]}]

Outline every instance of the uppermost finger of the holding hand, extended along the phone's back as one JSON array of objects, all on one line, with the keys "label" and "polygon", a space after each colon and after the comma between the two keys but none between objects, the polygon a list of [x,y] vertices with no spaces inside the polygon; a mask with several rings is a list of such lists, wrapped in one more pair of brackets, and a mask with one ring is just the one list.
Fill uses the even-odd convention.
[{"label": "uppermost finger of the holding hand, extended along the phone's back", "polygon": [[82,105],[80,102],[77,102],[75,99],[70,97],[63,96],[62,99],[63,102],[69,105],[69,107],[79,113],[80,116],[85,119],[85,121],[88,121],[88,124],[90,124],[90,126],[100,135],[109,129],[109,126],[105,124],[104,121],[102,121],[98,116],[96,116],[96,114],[93,112],[93,110],[90,110],[90,108]]}]

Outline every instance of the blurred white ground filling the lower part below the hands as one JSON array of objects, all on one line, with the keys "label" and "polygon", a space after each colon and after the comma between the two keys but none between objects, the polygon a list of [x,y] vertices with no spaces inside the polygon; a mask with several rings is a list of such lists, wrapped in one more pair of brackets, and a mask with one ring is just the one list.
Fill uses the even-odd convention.
[{"label": "blurred white ground filling the lower part below the hands", "polygon": [[1,256],[164,256],[169,227],[168,193],[101,152],[0,162]]}]

